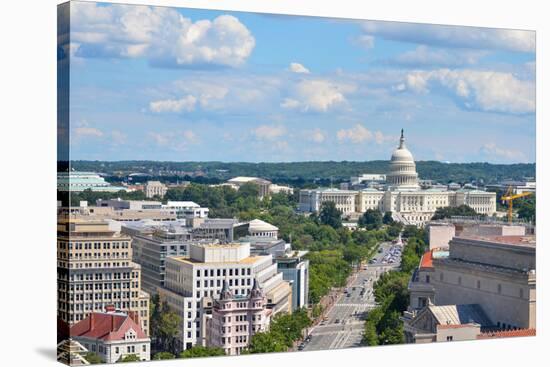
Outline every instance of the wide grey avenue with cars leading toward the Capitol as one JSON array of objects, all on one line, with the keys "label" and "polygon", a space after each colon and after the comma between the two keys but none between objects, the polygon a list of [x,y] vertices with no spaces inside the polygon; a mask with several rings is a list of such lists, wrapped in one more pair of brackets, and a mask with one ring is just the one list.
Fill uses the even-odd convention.
[{"label": "wide grey avenue with cars leading toward the Capitol", "polygon": [[310,329],[310,339],[301,350],[326,350],[358,347],[363,336],[364,320],[370,309],[376,306],[373,284],[385,271],[399,266],[400,253],[394,262],[388,263],[391,248],[400,248],[384,242],[381,252],[373,258],[373,263],[350,277],[348,287],[340,292],[336,302],[325,313],[325,319]]}]

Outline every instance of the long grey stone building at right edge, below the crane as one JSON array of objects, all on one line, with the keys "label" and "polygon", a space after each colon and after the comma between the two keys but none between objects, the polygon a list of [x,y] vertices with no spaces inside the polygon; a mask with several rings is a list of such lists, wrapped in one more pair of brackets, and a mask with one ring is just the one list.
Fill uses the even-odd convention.
[{"label": "long grey stone building at right edge, below the crane", "polygon": [[532,236],[455,237],[433,260],[434,303],[475,303],[499,328],[535,328],[535,254]]}]

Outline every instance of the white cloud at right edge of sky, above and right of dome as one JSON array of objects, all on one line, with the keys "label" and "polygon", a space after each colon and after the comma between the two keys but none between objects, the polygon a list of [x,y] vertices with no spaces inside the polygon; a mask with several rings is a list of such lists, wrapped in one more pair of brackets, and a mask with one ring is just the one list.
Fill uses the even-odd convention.
[{"label": "white cloud at right edge of sky, above and right of dome", "polygon": [[511,73],[449,70],[416,71],[406,77],[407,88],[427,93],[430,88],[451,92],[466,109],[512,114],[535,112],[535,83]]}]

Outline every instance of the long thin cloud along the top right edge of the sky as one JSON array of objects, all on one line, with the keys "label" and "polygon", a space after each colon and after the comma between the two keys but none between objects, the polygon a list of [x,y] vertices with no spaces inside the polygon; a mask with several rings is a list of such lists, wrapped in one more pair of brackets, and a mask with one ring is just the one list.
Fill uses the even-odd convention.
[{"label": "long thin cloud along the top right edge of the sky", "polygon": [[536,46],[535,32],[513,29],[382,21],[365,21],[362,29],[367,36],[447,48],[535,52]]}]

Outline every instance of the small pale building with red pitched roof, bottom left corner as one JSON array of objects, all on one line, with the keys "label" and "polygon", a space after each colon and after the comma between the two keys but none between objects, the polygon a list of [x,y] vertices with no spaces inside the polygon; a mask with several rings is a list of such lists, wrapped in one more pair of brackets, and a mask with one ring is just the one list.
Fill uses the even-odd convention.
[{"label": "small pale building with red pitched roof, bottom left corner", "polygon": [[141,361],[151,359],[151,339],[139,326],[139,317],[134,313],[92,312],[84,320],[74,324],[71,338],[104,363],[120,362],[125,356],[135,355]]}]

